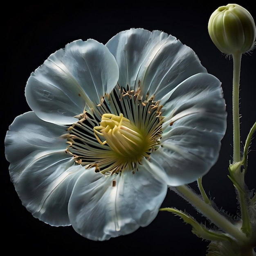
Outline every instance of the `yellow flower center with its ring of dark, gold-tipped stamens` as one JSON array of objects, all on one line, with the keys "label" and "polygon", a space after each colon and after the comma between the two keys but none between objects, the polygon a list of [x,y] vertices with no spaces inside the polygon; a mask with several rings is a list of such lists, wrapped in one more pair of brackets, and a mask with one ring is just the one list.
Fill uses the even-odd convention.
[{"label": "yellow flower center with its ring of dark, gold-tipped stamens", "polygon": [[97,109],[85,111],[68,128],[66,153],[95,172],[134,172],[160,144],[161,108],[153,97],[143,101],[139,93],[115,88]]}]

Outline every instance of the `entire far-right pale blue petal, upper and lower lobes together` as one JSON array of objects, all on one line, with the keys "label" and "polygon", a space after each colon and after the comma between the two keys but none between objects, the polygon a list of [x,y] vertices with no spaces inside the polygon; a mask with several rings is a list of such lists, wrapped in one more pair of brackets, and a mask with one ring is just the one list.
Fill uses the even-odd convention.
[{"label": "entire far-right pale blue petal, upper and lower lobes together", "polygon": [[220,81],[206,73],[191,76],[175,89],[163,115],[162,147],[151,161],[162,163],[168,185],[191,183],[218,159],[227,117]]}]

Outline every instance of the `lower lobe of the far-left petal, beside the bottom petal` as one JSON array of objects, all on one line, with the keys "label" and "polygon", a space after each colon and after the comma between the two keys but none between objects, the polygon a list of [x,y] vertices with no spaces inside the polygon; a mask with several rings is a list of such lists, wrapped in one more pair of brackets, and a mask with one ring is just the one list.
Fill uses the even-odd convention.
[{"label": "lower lobe of the far-left petal, beside the bottom petal", "polygon": [[22,204],[35,218],[53,226],[70,225],[67,204],[85,168],[62,151],[44,151],[29,160],[13,182]]}]

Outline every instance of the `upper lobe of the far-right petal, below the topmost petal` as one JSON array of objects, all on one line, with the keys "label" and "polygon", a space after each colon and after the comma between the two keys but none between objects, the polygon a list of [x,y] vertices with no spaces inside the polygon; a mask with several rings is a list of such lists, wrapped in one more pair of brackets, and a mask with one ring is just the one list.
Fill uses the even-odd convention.
[{"label": "upper lobe of the far-right petal, below the topmost petal", "polygon": [[180,83],[162,108],[162,113],[165,117],[163,130],[182,125],[207,130],[222,139],[227,127],[221,83],[207,73],[195,74]]}]

